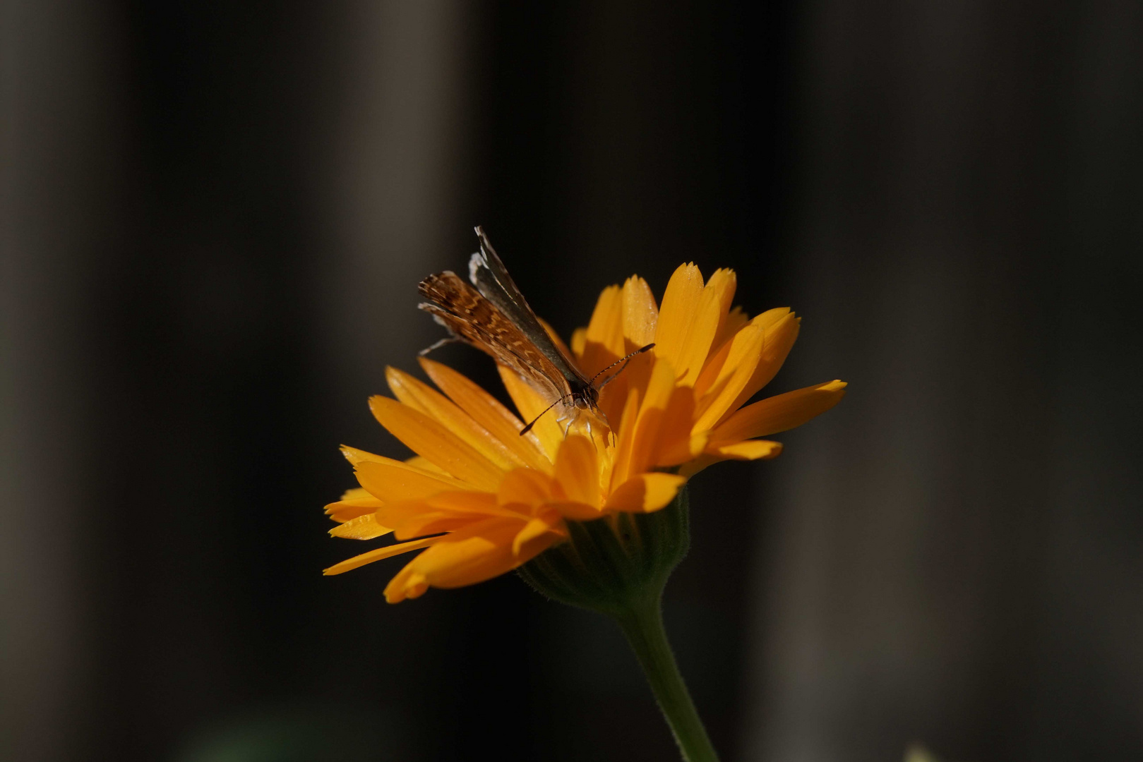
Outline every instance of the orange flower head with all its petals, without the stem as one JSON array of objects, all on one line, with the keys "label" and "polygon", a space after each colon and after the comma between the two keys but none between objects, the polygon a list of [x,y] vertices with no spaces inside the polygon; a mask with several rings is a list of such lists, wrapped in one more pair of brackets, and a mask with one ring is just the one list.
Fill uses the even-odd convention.
[{"label": "orange flower head with all its petals, without the stem", "polygon": [[361,487],[326,511],[338,522],[331,535],[400,542],[326,573],[423,550],[385,587],[386,600],[470,585],[562,542],[569,521],[657,511],[712,463],[778,455],[781,444],[758,438],[833,407],[845,384],[742,407],[782,366],[799,320],[786,308],[748,319],[730,308],[734,288],[729,270],[704,283],[697,267],[682,265],[662,308],[642,279],[605,289],[590,324],[572,338],[582,370],[591,376],[641,346],[655,348],[601,387],[605,420],[596,425],[573,419],[565,428],[557,416],[541,416],[549,400],[504,367],[519,417],[447,366],[421,361],[437,390],[390,368],[395,399],[369,404],[417,455],[401,462],[343,448]]}]

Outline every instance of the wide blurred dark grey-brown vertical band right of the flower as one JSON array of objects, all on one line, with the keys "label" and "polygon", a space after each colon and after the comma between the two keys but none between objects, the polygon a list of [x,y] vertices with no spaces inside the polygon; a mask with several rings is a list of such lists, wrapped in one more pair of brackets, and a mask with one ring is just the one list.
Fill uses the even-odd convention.
[{"label": "wide blurred dark grey-brown vertical band right of the flower", "polygon": [[749,759],[1135,757],[1137,3],[809,10]]}]

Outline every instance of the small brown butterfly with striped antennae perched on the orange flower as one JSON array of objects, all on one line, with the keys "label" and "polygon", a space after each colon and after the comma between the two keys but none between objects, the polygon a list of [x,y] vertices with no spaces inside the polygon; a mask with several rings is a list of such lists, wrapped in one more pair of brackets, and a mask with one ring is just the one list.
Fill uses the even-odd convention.
[{"label": "small brown butterfly with striped antennae perched on the orange flower", "polygon": [[[552,340],[512,276],[507,274],[507,268],[496,255],[485,231],[479,225],[475,231],[480,250],[469,258],[471,284],[446,270],[425,278],[417,286],[421,296],[426,299],[419,307],[449,331],[448,337],[421,354],[427,354],[449,342],[464,342],[488,353],[496,362],[523,378],[550,404],[520,430],[521,435],[528,433],[555,406],[562,407],[561,420],[580,411],[591,411],[602,417],[599,410],[599,391],[623,372],[631,358],[655,345],[639,347],[589,378],[576,367],[567,351]],[[602,384],[596,384],[600,376],[621,363],[623,367],[618,371]]]}]

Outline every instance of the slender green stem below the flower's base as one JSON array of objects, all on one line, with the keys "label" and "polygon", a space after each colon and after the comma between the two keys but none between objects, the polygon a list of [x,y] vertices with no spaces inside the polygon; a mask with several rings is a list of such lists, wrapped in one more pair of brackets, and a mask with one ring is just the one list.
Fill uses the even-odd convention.
[{"label": "slender green stem below the flower's base", "polygon": [[622,612],[613,612],[612,616],[628,636],[628,642],[647,675],[658,708],[666,717],[666,724],[671,727],[679,751],[682,752],[682,759],[686,762],[718,762],[718,754],[711,745],[703,721],[698,719],[695,703],[690,699],[671,644],[666,641],[660,596],[648,596],[639,604]]}]

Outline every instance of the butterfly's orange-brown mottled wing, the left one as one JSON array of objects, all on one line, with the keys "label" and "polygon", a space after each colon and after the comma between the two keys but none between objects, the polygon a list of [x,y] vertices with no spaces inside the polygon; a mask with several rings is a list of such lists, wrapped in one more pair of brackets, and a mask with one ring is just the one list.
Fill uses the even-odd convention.
[{"label": "butterfly's orange-brown mottled wing, the left one", "polygon": [[430,275],[417,289],[427,299],[419,305],[422,310],[432,314],[456,338],[511,368],[549,402],[572,392],[560,369],[531,337],[456,273],[445,271]]}]

